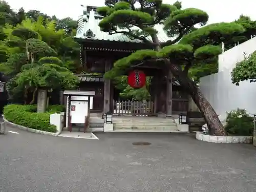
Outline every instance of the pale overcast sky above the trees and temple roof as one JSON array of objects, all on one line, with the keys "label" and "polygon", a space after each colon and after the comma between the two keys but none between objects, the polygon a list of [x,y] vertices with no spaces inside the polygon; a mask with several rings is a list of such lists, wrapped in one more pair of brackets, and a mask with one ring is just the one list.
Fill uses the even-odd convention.
[{"label": "pale overcast sky above the trees and temple roof", "polygon": [[[6,2],[14,10],[23,7],[25,11],[39,10],[50,16],[55,15],[57,18],[71,17],[75,20],[78,19],[78,16],[82,15],[83,8],[80,5],[104,6],[104,0],[6,0]],[[176,0],[163,0],[163,2],[172,4]],[[193,7],[206,11],[209,15],[208,24],[232,22],[239,18],[241,14],[250,16],[251,19],[256,20],[256,3],[253,3],[253,0],[183,0],[181,2],[182,8]]]}]

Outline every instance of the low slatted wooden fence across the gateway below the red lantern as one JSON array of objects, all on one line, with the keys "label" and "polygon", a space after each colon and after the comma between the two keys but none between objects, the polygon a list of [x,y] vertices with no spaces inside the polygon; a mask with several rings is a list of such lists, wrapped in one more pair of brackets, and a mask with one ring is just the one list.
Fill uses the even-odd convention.
[{"label": "low slatted wooden fence across the gateway below the red lantern", "polygon": [[148,116],[154,114],[152,101],[120,101],[113,100],[113,114]]}]

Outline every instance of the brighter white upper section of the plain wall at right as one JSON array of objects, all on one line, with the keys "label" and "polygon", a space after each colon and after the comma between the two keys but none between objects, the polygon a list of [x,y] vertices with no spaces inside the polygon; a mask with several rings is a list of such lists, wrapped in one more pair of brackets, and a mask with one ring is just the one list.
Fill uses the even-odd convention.
[{"label": "brighter white upper section of the plain wall at right", "polygon": [[[225,46],[225,45],[224,45]],[[243,42],[219,55],[219,72],[232,69],[237,62],[244,60],[244,53],[248,56],[256,50],[256,37]]]}]

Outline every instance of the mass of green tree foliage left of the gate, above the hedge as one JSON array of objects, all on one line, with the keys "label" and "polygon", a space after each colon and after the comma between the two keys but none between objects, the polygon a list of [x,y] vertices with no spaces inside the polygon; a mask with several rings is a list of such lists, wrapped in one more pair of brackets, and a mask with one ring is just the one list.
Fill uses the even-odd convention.
[{"label": "mass of green tree foliage left of the gate, above the hedge", "polygon": [[66,68],[76,72],[79,62],[79,45],[70,36],[76,22],[60,20],[36,10],[14,12],[0,1],[0,71],[9,77],[11,99],[33,103],[38,89],[52,92],[77,86],[79,80]]}]

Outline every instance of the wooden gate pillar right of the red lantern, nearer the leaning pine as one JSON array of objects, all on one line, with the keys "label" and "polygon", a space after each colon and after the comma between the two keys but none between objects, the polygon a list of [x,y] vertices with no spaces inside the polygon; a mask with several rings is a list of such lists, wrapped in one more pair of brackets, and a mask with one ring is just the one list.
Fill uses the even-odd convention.
[{"label": "wooden gate pillar right of the red lantern, nearer the leaning pine", "polygon": [[172,116],[173,100],[173,74],[168,72],[166,78],[166,116]]}]

